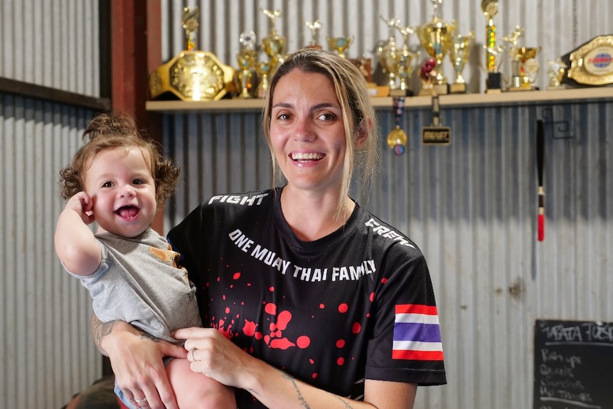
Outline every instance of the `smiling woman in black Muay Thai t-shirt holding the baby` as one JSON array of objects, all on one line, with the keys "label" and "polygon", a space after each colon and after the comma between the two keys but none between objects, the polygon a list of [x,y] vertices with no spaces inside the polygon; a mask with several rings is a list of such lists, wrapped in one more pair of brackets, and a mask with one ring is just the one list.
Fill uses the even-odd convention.
[{"label": "smiling woman in black Muay Thai t-shirt holding the baby", "polygon": [[118,385],[176,408],[161,358],[187,355],[240,409],[412,408],[417,385],[446,383],[442,344],[424,256],[348,196],[353,164],[366,180],[377,159],[366,81],[339,55],[297,51],[264,129],[287,184],[213,196],[169,233],[213,328],[176,331],[181,350],[94,319]]}]

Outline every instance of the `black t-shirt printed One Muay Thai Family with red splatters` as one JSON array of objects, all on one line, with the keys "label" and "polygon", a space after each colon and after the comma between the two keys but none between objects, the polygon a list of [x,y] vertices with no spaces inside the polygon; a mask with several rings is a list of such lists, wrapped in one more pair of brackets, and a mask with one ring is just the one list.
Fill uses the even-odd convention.
[{"label": "black t-shirt printed One Muay Thai Family with red splatters", "polygon": [[[213,196],[169,233],[204,326],[295,378],[363,398],[365,378],[446,383],[430,273],[415,243],[356,204],[346,225],[299,240],[280,188]],[[248,393],[238,405],[258,408]]]}]

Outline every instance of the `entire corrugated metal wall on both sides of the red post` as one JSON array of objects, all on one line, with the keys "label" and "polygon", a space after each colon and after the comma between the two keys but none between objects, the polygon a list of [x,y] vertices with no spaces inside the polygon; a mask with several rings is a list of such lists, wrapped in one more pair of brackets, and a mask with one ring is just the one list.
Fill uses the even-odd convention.
[{"label": "entire corrugated metal wall on both sides of the red post", "polygon": [[[479,0],[444,0],[442,15],[484,41]],[[178,1],[163,0],[162,55],[183,46],[181,9],[201,8],[198,48],[236,65],[238,36],[260,38],[269,21],[260,9],[282,9],[277,29],[288,51],[304,46],[303,21],[319,19],[326,36],[353,36],[348,55],[373,58],[388,36],[380,16],[403,24],[428,21],[428,0]],[[499,32],[526,28],[526,45],[543,46],[540,64],[612,31],[609,0],[499,2]],[[0,0],[0,77],[100,96],[98,2]],[[400,41],[400,36],[397,38]],[[412,38],[417,46],[417,38]],[[464,71],[482,90],[483,56]],[[451,76],[451,68],[445,68]],[[544,70],[541,86],[546,84]],[[543,110],[550,108],[550,111]],[[368,207],[406,231],[430,262],[442,311],[449,386],[420,388],[419,408],[529,408],[531,331],[535,317],[613,320],[612,103],[443,110],[449,147],[412,139],[404,156],[383,147],[378,188]],[[2,193],[0,258],[0,399],[6,408],[53,408],[100,376],[88,330],[90,299],[53,253],[62,208],[55,176],[80,143],[92,112],[0,95]],[[393,119],[382,110],[382,132]],[[549,115],[549,116],[548,116]],[[535,242],[533,124],[568,119],[569,132],[546,135],[546,238]],[[527,118],[527,119],[526,119]],[[419,134],[428,110],[405,115]],[[258,112],[193,113],[164,118],[164,142],[186,176],[169,203],[166,225],[222,191],[270,184],[270,160]],[[589,181],[589,183],[588,183]]]}]

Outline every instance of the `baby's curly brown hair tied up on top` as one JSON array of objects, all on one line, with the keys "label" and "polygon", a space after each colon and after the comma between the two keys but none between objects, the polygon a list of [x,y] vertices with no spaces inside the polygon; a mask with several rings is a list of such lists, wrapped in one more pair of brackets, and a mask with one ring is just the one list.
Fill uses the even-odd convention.
[{"label": "baby's curly brown hair tied up on top", "polygon": [[64,200],[83,190],[85,171],[95,156],[107,149],[141,149],[151,169],[156,186],[156,201],[164,203],[176,192],[180,169],[171,159],[164,159],[161,147],[144,132],[139,131],[134,118],[123,112],[105,112],[97,115],[82,134],[83,145],[73,161],[60,171],[60,195]]}]

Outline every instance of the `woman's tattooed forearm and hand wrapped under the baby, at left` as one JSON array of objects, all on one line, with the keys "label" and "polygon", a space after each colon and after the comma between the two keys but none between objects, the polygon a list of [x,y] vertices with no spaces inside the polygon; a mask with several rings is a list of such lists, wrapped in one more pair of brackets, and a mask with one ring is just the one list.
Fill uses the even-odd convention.
[{"label": "woman's tattooed forearm and hand wrapped under the baby, at left", "polygon": [[152,409],[178,409],[162,358],[186,358],[187,351],[152,337],[122,321],[100,322],[95,314],[90,322],[98,351],[111,361],[115,381],[134,408],[134,397],[146,397]]}]

